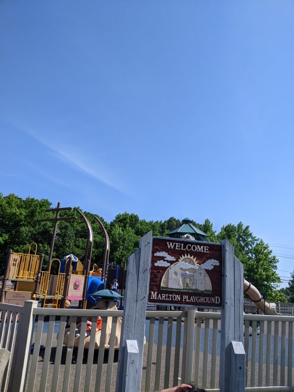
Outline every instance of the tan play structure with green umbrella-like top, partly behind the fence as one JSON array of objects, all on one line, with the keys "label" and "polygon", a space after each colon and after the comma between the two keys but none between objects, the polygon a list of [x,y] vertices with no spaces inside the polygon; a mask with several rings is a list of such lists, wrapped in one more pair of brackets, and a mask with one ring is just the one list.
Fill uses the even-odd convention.
[{"label": "tan play structure with green umbrella-like top, partly behind the fence", "polygon": [[[92,296],[93,298],[96,298],[96,303],[92,307],[92,309],[99,309],[99,310],[118,310],[115,304],[115,299],[122,298],[120,294],[117,294],[112,290],[99,290],[96,293],[93,293]],[[84,347],[89,348],[90,336],[87,337],[81,336],[79,327],[80,326],[78,325],[76,328],[75,338],[73,339],[73,347],[78,347],[80,339],[84,339],[85,340]],[[119,349],[120,347],[121,328],[122,328],[122,318],[118,317],[117,327],[116,327],[116,337],[115,337],[116,349]],[[107,317],[105,344],[104,344],[104,348],[106,349],[109,348],[111,330],[112,330],[112,317]],[[101,338],[101,330],[98,330],[95,334],[95,345],[94,345],[95,349],[98,349],[100,346],[100,338]],[[68,341],[69,341],[69,328],[66,328],[63,344],[67,345]]]}]

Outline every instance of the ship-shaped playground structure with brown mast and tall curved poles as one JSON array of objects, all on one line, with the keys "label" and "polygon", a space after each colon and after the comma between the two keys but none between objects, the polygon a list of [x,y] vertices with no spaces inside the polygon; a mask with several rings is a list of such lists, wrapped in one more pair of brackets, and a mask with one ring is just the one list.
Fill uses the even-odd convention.
[{"label": "ship-shaped playground structure with brown mast and tall curved poles", "polygon": [[[87,245],[84,264],[72,254],[64,256],[61,261],[58,259],[52,260],[58,221],[77,219],[77,217],[59,218],[59,212],[71,209],[71,207],[60,208],[60,203],[58,203],[57,208],[46,210],[47,212],[55,212],[55,218],[40,220],[41,222],[54,222],[49,263],[46,271],[42,270],[44,255],[36,254],[37,245],[35,242],[29,246],[28,254],[14,253],[12,250],[9,251],[2,282],[0,302],[9,301],[17,305],[24,305],[25,300],[42,299],[42,306],[44,307],[65,308],[69,306],[69,301],[78,300],[82,309],[86,307],[87,301],[90,301],[90,305],[93,305],[95,301],[91,297],[91,294],[105,288],[103,280],[104,273],[107,273],[110,241],[102,222],[97,217],[94,217],[102,229],[105,245],[102,269],[98,269],[97,265],[94,264],[96,270],[93,268],[90,271],[93,230],[88,219],[78,209],[77,211],[87,227]],[[35,247],[34,253],[31,253],[32,245]],[[13,291],[6,290],[7,280],[16,282]]]}]

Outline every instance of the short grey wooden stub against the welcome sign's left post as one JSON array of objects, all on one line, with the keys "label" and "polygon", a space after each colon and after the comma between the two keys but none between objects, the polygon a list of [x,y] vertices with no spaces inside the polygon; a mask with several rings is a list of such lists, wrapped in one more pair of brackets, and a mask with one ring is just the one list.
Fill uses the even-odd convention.
[{"label": "short grey wooden stub against the welcome sign's left post", "polygon": [[122,390],[136,390],[139,348],[136,340],[127,340],[123,370]]}]

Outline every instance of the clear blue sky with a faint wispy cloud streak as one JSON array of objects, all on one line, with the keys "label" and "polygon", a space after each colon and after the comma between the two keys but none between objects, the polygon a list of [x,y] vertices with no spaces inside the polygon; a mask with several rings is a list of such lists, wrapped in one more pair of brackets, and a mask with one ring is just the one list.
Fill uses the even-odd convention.
[{"label": "clear blue sky with a faint wispy cloud streak", "polygon": [[0,191],[242,221],[294,269],[294,3],[2,0]]}]

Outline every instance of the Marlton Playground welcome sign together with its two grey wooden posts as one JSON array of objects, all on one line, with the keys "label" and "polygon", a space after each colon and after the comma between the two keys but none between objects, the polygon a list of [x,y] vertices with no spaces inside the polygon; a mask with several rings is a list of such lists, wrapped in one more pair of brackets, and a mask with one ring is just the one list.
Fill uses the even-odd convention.
[{"label": "Marlton Playground welcome sign together with its two grey wooden posts", "polygon": [[192,308],[222,309],[220,392],[245,391],[243,266],[229,241],[152,237],[152,232],[141,238],[139,249],[128,259],[116,392],[140,391],[147,300],[189,308],[185,328],[191,341],[187,338],[183,347],[189,369],[182,382],[190,382],[186,378],[192,376]]}]

